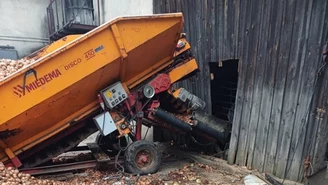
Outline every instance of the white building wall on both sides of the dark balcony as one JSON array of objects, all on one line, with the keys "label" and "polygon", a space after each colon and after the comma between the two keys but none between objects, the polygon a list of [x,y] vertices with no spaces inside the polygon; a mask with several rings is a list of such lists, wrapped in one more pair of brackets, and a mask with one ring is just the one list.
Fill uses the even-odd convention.
[{"label": "white building wall on both sides of the dark balcony", "polygon": [[[94,0],[98,20],[98,0]],[[153,14],[152,0],[99,0],[100,20]],[[48,44],[47,7],[50,0],[0,0],[0,46],[14,46],[24,57]]]}]

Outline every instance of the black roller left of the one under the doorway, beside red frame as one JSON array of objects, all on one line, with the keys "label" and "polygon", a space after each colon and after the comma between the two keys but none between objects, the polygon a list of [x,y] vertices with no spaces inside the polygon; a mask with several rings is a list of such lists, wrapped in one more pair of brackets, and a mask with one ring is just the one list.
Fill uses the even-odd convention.
[{"label": "black roller left of the one under the doorway, beside red frame", "polygon": [[158,117],[159,119],[161,119],[173,126],[180,128],[183,131],[188,132],[188,131],[192,130],[191,126],[188,123],[181,121],[178,118],[174,117],[172,114],[169,114],[160,109],[156,109],[154,111],[154,116]]}]

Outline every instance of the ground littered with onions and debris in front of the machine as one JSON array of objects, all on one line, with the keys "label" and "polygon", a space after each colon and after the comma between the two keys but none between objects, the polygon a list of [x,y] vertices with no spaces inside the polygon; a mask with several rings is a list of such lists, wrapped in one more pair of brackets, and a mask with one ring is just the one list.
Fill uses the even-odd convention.
[{"label": "ground littered with onions and debris in front of the machine", "polygon": [[[78,155],[76,158],[81,159],[81,156]],[[78,170],[70,173],[36,177],[27,176],[29,178],[27,178],[24,174],[19,174],[15,169],[5,169],[0,173],[0,185],[242,185],[244,184],[244,177],[251,173],[251,171],[248,171],[246,168],[242,167],[229,165],[228,169],[227,166],[225,166],[226,164],[217,165],[218,160],[220,162],[224,162],[220,159],[213,159],[211,163],[213,165],[209,165],[208,163],[195,162],[195,159],[189,157],[181,158],[181,156],[166,154],[163,156],[163,162],[159,171],[156,174],[148,176],[131,176],[129,174],[117,171],[114,166],[106,166],[106,169]],[[197,161],[201,160],[198,158]]]}]

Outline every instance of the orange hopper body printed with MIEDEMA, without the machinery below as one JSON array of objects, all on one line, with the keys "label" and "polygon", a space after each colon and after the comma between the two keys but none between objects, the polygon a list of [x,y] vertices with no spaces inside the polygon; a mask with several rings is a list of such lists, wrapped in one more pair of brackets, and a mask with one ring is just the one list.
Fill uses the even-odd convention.
[{"label": "orange hopper body printed with MIEDEMA, without the machinery below", "polygon": [[[97,93],[116,80],[129,91],[164,69],[190,47],[175,52],[182,25],[181,13],[118,18],[30,55],[38,61],[0,82],[0,132],[20,129],[1,142],[19,155],[97,110]],[[14,87],[23,85],[29,69],[38,80],[27,75],[25,95],[19,97]],[[7,160],[0,149],[0,161]]]}]

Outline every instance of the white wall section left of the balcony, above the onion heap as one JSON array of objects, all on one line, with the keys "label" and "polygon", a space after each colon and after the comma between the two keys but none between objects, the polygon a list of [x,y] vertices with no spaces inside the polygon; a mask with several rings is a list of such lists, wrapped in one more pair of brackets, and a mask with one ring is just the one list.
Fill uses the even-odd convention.
[{"label": "white wall section left of the balcony, above the onion heap", "polygon": [[49,0],[0,0],[0,45],[14,46],[19,57],[48,43]]}]

